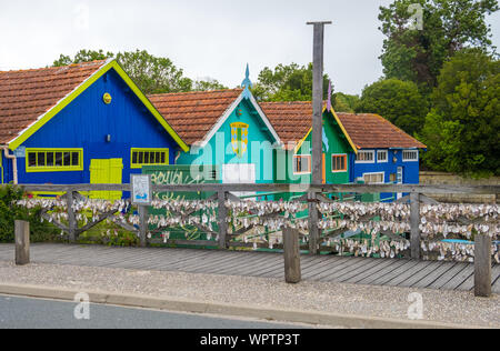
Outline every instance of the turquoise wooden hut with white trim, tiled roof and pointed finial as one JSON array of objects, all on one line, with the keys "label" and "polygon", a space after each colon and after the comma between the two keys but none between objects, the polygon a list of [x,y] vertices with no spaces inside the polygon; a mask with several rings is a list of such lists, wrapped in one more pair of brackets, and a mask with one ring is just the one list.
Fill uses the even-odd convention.
[{"label": "turquoise wooden hut with white trim, tiled roof and pointed finial", "polygon": [[203,174],[207,166],[214,166],[210,180],[222,183],[274,182],[282,143],[250,86],[247,71],[244,89],[149,97],[190,147],[189,153],[176,156],[176,164],[189,164]]}]

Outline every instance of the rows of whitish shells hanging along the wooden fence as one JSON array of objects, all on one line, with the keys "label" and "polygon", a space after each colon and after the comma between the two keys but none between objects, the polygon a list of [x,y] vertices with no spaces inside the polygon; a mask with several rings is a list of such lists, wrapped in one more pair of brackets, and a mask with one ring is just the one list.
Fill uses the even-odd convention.
[{"label": "rows of whitish shells hanging along the wooden fence", "polygon": [[[42,209],[49,223],[68,221],[67,200],[64,197],[54,199],[22,199],[16,202],[27,209]],[[308,209],[308,204],[299,201],[231,201],[224,202],[228,212],[226,222],[234,230],[257,229],[258,235],[252,239],[268,242],[269,247],[282,242],[280,239],[268,240],[268,232],[280,232],[284,227],[296,228],[302,232],[309,230],[307,218],[298,219],[297,214]],[[409,249],[410,242],[401,237],[389,242],[378,241],[384,232],[406,233],[410,227],[410,205],[408,203],[366,203],[366,202],[320,202],[318,209],[322,213],[318,228],[339,231],[361,230],[371,237],[363,240],[330,240],[328,247],[338,251],[349,251],[358,255],[398,257]],[[73,201],[73,212],[79,222],[87,224],[89,220],[99,220],[100,213],[114,213],[113,221],[129,223],[136,228],[140,224],[138,214],[132,214],[128,200],[106,201],[79,198]],[[208,238],[214,235],[212,228],[218,224],[218,202],[207,200],[154,200],[148,224],[159,231],[169,227],[194,225],[203,229]],[[158,212],[158,213],[157,213]],[[424,255],[436,255],[442,260],[473,260],[473,244],[442,242],[442,238],[470,241],[473,235],[489,235],[494,239],[500,232],[498,204],[421,204],[419,229],[424,239],[421,243]],[[44,222],[41,218],[40,222]],[[149,233],[150,234],[150,233]],[[109,232],[106,235],[110,237]],[[118,232],[114,231],[114,235]],[[167,239],[166,239],[167,238]],[[168,240],[169,235],[163,235]],[[218,239],[217,239],[218,240]],[[247,235],[242,241],[248,243]],[[303,238],[308,242],[308,237]],[[377,244],[376,244],[377,243]],[[499,262],[498,242],[492,245],[492,254]]]}]

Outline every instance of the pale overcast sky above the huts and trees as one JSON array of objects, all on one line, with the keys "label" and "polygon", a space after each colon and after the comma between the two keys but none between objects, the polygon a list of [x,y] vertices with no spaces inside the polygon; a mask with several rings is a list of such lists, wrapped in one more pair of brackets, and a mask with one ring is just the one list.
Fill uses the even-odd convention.
[{"label": "pale overcast sky above the huts and trees", "polygon": [[[378,80],[383,36],[378,8],[392,0],[0,0],[0,70],[52,64],[80,49],[146,49],[197,79],[241,83],[247,62],[264,67],[312,60],[312,27],[326,30],[324,70],[336,91],[360,93]],[[500,16],[488,19],[500,47]]]}]

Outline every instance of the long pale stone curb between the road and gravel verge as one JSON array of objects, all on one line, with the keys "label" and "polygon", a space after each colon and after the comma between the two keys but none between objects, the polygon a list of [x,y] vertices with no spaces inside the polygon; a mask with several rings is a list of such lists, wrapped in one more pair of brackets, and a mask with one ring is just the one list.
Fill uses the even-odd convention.
[{"label": "long pale stone curb between the road and gravel verge", "polygon": [[[52,288],[24,284],[0,284],[0,293],[31,298],[74,301],[74,295],[82,291],[64,288]],[[144,295],[112,293],[104,291],[87,291],[92,303],[106,303],[121,307],[147,308],[171,312],[191,312],[221,314],[227,317],[256,318],[270,321],[294,322],[329,327],[361,329],[482,329],[476,325],[458,325],[432,321],[412,321],[378,317],[361,317],[310,312],[299,310],[257,308],[226,303],[200,302],[184,299],[153,298]]]}]

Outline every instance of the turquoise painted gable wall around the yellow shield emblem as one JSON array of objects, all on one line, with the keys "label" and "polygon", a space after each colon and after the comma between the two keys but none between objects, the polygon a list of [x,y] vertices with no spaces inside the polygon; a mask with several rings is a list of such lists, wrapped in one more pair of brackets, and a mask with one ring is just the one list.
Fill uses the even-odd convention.
[{"label": "turquoise painted gable wall around the yellow shield emblem", "polygon": [[[237,114],[237,111],[241,116]],[[242,122],[248,128],[248,149],[242,158],[238,158],[231,147],[231,123]],[[257,183],[274,182],[274,157],[272,148],[276,140],[266,127],[261,117],[257,113],[251,102],[243,99],[221,126],[218,132],[210,139],[202,149],[191,148],[190,153],[182,153],[178,159],[178,164],[204,164],[219,166],[231,163],[254,163]],[[253,148],[252,148],[253,143]],[[222,176],[220,176],[222,178]],[[220,179],[221,180],[221,179]]]}]

